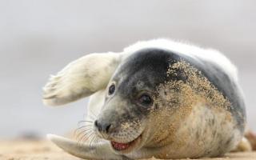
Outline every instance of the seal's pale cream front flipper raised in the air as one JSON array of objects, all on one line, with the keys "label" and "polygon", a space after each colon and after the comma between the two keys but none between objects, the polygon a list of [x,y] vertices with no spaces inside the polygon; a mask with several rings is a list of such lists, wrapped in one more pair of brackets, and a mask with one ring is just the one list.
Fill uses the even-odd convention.
[{"label": "seal's pale cream front flipper raised in the air", "polygon": [[64,105],[106,88],[120,61],[120,54],[88,54],[70,62],[43,88],[43,103]]}]

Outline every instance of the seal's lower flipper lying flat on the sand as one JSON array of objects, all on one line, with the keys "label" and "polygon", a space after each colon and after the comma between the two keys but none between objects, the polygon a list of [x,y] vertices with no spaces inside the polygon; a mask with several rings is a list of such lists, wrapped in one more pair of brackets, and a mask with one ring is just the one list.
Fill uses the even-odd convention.
[{"label": "seal's lower flipper lying flat on the sand", "polygon": [[128,159],[125,156],[114,154],[110,150],[109,144],[100,142],[98,145],[90,146],[89,144],[78,144],[68,138],[63,138],[58,135],[48,134],[47,138],[54,142],[57,146],[66,152],[84,159]]}]

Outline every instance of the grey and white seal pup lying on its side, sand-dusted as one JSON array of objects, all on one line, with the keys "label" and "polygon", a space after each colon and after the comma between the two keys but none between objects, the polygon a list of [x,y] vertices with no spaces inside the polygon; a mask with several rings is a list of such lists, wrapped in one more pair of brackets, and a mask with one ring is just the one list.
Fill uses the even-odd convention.
[{"label": "grey and white seal pup lying on its side, sand-dusted", "polygon": [[[217,50],[156,39],[121,53],[88,54],[44,87],[43,102],[90,96],[78,143],[49,134],[79,158],[218,157],[242,141],[246,110],[236,67]],[[95,140],[97,139],[97,141]]]}]

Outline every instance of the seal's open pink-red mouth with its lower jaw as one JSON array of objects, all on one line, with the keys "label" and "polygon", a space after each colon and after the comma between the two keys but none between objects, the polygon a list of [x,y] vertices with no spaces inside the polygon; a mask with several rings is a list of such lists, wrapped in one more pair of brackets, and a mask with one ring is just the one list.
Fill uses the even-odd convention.
[{"label": "seal's open pink-red mouth with its lower jaw", "polygon": [[142,134],[140,134],[138,136],[138,138],[135,138],[133,141],[131,142],[126,142],[126,143],[122,143],[122,142],[114,142],[111,141],[111,146],[114,149],[115,152],[119,152],[122,154],[127,154],[130,151],[134,150],[135,148],[137,148],[139,146],[139,143],[142,140]]}]

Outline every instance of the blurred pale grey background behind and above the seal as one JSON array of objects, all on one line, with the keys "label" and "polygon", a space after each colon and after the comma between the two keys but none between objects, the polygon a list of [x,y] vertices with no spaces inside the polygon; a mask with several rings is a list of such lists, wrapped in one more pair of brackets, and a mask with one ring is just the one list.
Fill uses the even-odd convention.
[{"label": "blurred pale grey background behind and above the seal", "polygon": [[50,108],[50,74],[92,52],[121,51],[152,38],[222,51],[238,66],[250,128],[256,130],[256,1],[0,0],[0,138],[64,134],[86,99]]}]

